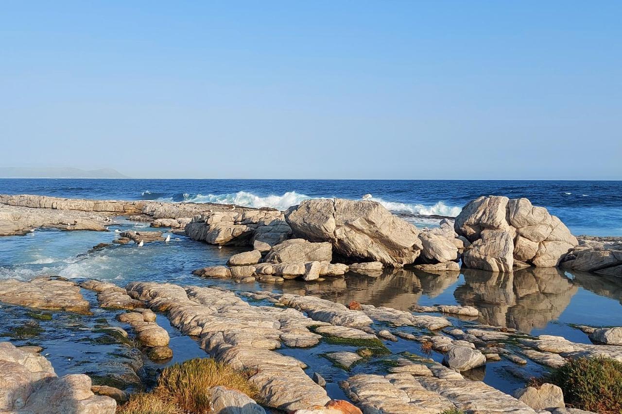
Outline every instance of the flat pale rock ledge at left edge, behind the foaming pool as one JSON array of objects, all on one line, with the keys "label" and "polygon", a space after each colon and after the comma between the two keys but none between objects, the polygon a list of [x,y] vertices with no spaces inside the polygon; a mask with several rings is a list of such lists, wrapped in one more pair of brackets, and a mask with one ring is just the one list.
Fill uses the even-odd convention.
[{"label": "flat pale rock ledge at left edge, behind the foaming pool", "polygon": [[[0,196],[1,199],[1,196]],[[23,235],[36,228],[106,231],[106,216],[0,205],[0,236]]]}]

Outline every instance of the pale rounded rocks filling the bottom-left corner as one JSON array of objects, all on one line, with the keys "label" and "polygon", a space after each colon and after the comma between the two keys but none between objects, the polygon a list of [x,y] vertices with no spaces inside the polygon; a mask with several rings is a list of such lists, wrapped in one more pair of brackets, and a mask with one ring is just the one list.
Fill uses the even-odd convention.
[{"label": "pale rounded rocks filling the bottom-left corner", "polygon": [[82,374],[58,378],[43,356],[0,343],[0,411],[114,414],[112,398],[94,395]]}]

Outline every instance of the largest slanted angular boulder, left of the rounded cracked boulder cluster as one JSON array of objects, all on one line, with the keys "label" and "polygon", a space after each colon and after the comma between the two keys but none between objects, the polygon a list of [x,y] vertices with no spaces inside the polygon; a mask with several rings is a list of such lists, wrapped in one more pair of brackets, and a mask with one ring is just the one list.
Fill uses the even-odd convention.
[{"label": "largest slanted angular boulder, left of the rounded cracked boulder cluster", "polygon": [[331,242],[338,254],[402,267],[419,257],[419,230],[375,201],[306,200],[285,212],[296,237]]}]

